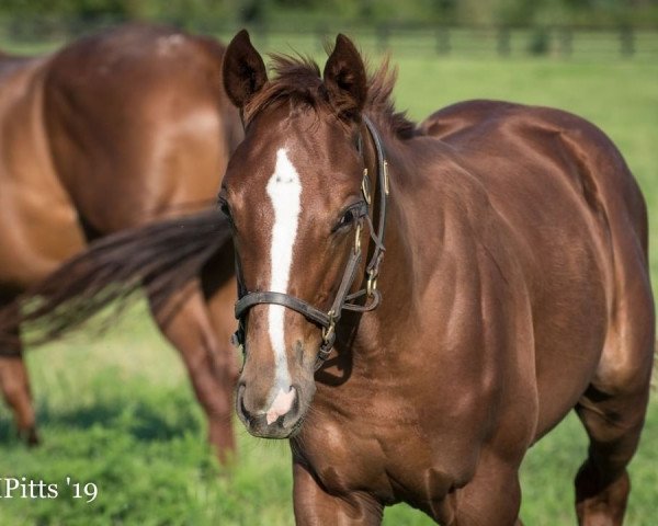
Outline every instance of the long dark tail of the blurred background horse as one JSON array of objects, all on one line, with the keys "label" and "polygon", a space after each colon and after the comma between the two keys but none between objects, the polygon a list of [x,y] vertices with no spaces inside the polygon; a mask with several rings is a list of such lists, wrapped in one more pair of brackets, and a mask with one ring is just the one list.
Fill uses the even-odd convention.
[{"label": "long dark tail of the blurred background horse", "polygon": [[15,343],[23,323],[29,328],[23,340],[44,343],[109,305],[125,307],[139,297],[133,294],[138,289],[148,295],[155,312],[173,310],[170,299],[201,276],[204,263],[229,247],[230,238],[230,226],[217,210],[103,238],[0,310],[0,344]]}]

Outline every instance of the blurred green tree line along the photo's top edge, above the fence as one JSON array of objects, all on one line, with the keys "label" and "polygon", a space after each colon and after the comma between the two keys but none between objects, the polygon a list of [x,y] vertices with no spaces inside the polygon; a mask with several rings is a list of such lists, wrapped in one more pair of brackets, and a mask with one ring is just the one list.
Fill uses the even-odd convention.
[{"label": "blurred green tree line along the photo's top edge, above the fence", "polygon": [[35,19],[54,24],[149,19],[182,26],[218,22],[656,26],[658,0],[0,0],[0,16],[19,25]]}]

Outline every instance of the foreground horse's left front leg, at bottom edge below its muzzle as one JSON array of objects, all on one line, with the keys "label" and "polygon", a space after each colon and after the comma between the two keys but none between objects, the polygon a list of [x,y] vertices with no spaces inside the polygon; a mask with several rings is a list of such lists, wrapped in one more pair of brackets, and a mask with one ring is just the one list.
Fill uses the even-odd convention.
[{"label": "foreground horse's left front leg, at bottom edge below its muzzle", "polygon": [[293,464],[293,480],[295,523],[298,526],[382,524],[384,506],[367,494],[329,494],[297,461]]}]

